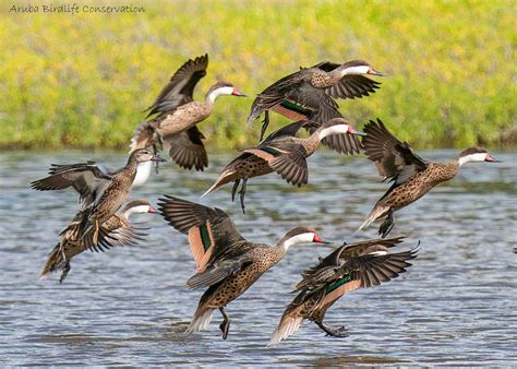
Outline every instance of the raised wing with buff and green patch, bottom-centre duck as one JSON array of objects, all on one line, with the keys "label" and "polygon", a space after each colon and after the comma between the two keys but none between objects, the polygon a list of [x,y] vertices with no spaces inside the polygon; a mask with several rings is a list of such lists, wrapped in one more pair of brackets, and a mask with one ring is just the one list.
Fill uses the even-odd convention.
[{"label": "raised wing with buff and green patch, bottom-centre duck", "polygon": [[236,225],[220,209],[165,195],[158,207],[175,229],[189,236],[197,272],[204,271],[233,243],[244,240]]}]

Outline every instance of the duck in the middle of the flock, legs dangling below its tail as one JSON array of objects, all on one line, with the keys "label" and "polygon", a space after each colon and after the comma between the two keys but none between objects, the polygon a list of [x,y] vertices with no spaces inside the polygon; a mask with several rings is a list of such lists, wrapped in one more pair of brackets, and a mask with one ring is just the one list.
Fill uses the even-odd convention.
[{"label": "duck in the middle of the flock, legs dangling below its tail", "polygon": [[[312,132],[306,139],[296,136],[302,127]],[[306,120],[290,123],[272,133],[257,146],[244,150],[241,155],[223,169],[216,182],[202,197],[214,192],[228,182],[235,182],[231,191],[233,201],[242,180],[240,200],[242,212],[245,213],[244,197],[248,179],[276,171],[288,183],[298,187],[305,184],[309,180],[306,158],[316,151],[323,139],[334,134],[350,135],[352,136],[350,142],[356,142],[356,135],[362,133],[358,132],[344,118],[334,118],[316,126],[314,126],[314,122]],[[359,152],[359,144],[353,147]]]}]

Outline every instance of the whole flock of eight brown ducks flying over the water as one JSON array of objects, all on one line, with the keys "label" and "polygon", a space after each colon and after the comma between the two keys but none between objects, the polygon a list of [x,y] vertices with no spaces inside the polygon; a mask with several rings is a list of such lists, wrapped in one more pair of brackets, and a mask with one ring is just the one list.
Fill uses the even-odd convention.
[{"label": "whole flock of eight brown ducks flying over the water", "polygon": [[[228,82],[217,82],[203,102],[193,99],[196,83],[206,75],[208,56],[187,61],[170,79],[148,108],[131,140],[131,153],[125,166],[115,172],[104,170],[94,162],[73,165],[52,165],[49,176],[32,182],[40,191],[73,188],[80,195],[80,210],[60,240],[48,255],[41,277],[61,271],[63,282],[70,261],[89,249],[104,251],[113,246],[132,245],[145,236],[143,228],[130,223],[139,213],[159,213],[178,231],[188,236],[195,260],[195,274],[187,282],[190,288],[206,288],[187,332],[206,330],[213,314],[223,316],[223,338],[228,336],[230,318],[226,306],[242,295],[263,273],[277,264],[287,250],[298,243],[324,242],[310,227],[289,230],[275,246],[247,240],[220,209],[212,209],[171,195],[159,199],[158,211],[148,201],[125,203],[133,186],[143,184],[149,177],[153,163],[165,162],[158,155],[167,150],[170,158],[185,169],[203,170],[208,155],[204,135],[197,123],[207,119],[219,96],[245,96]],[[327,335],[342,337],[346,329],[323,323],[328,308],[347,291],[371,287],[396,278],[411,265],[418,248],[392,252],[404,237],[386,238],[395,225],[394,212],[420,199],[436,184],[456,176],[470,162],[496,162],[482,147],[470,147],[447,163],[433,163],[417,155],[406,142],[393,135],[377,119],[358,132],[339,112],[336,98],[353,99],[369,96],[380,83],[366,75],[383,76],[362,60],[344,64],[321,62],[300,68],[260,93],[254,99],[248,122],[264,114],[261,142],[244,150],[221,171],[216,182],[203,194],[207,195],[226,183],[233,182],[231,199],[239,190],[242,212],[250,178],[277,172],[288,183],[308,183],[306,158],[320,143],[337,153],[364,152],[373,162],[383,180],[393,184],[377,201],[360,226],[364,229],[378,218],[385,218],[378,233],[382,238],[365,240],[335,249],[326,258],[302,273],[292,302],[286,308],[269,344],[277,344],[296,332],[303,320],[313,321]],[[274,111],[292,123],[263,136]],[[309,136],[297,136],[300,130]],[[359,140],[359,136],[363,136]],[[124,205],[125,203],[125,205]]]}]

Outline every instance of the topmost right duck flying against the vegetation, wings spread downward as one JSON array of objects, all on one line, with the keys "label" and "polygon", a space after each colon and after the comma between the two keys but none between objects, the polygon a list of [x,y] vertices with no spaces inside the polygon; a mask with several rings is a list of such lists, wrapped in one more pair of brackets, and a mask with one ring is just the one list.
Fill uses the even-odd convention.
[{"label": "topmost right duck flying against the vegetation, wings spread downward", "polygon": [[[247,122],[257,119],[264,112],[262,141],[269,123],[269,110],[290,120],[310,119],[316,123],[342,118],[335,98],[369,96],[381,84],[363,74],[385,75],[364,60],[352,60],[342,64],[323,61],[311,68],[301,68],[260,93],[251,106]],[[330,147],[346,151],[339,142],[330,142]]]}]

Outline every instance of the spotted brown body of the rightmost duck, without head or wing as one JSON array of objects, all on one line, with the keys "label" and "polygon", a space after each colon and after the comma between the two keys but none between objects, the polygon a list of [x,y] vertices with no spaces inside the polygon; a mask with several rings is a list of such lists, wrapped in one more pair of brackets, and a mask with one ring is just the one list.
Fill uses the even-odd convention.
[{"label": "spotted brown body of the rightmost duck, without head or wing", "polygon": [[458,170],[457,163],[430,163],[428,168],[389,192],[378,204],[388,205],[393,210],[401,209],[423,197],[436,184],[454,178]]}]

